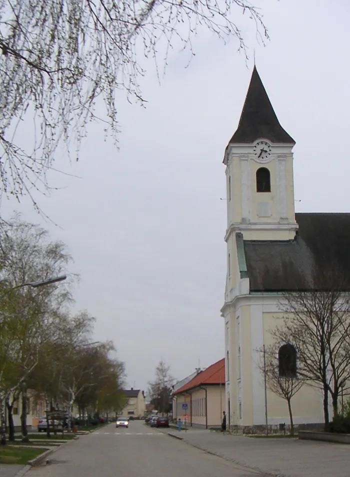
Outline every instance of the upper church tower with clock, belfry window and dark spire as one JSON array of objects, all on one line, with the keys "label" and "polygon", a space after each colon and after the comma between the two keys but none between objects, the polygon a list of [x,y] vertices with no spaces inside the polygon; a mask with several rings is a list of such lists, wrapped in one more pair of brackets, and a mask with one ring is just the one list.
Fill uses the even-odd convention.
[{"label": "upper church tower with clock, belfry window and dark spire", "polygon": [[227,183],[226,241],[235,231],[250,240],[294,237],[294,144],[280,125],[254,66],[237,130],[223,159]]}]

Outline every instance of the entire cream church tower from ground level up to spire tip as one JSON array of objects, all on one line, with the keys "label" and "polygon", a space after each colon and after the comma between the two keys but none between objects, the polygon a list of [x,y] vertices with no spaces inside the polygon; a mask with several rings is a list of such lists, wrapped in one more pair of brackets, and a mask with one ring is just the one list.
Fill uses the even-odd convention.
[{"label": "entire cream church tower from ground level up to spire tip", "polygon": [[294,144],[280,125],[254,66],[238,127],[223,159],[227,187],[227,275],[221,313],[225,320],[229,425],[261,424],[264,419],[263,388],[254,390],[259,385],[259,370],[251,363],[263,334],[263,307],[255,301],[264,298],[250,293],[245,243],[289,242],[295,237],[298,225],[294,213]]}]

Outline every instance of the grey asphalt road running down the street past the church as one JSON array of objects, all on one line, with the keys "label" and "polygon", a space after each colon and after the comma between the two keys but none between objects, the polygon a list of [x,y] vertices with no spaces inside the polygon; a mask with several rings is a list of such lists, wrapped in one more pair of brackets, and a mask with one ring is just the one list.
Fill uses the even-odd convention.
[{"label": "grey asphalt road running down the street past the church", "polygon": [[109,424],[69,442],[28,477],[261,477],[261,473],[169,437],[142,421]]}]

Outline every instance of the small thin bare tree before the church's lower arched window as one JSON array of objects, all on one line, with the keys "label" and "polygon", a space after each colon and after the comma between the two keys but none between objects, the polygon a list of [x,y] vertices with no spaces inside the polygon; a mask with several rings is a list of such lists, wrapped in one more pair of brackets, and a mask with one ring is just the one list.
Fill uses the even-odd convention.
[{"label": "small thin bare tree before the church's lower arched window", "polygon": [[[290,343],[284,346],[294,349]],[[290,434],[294,434],[293,415],[291,411],[291,398],[304,384],[304,380],[297,375],[296,356],[294,361],[293,351],[281,356],[280,349],[276,344],[259,349],[261,359],[258,367],[263,378],[266,380],[266,387],[274,394],[285,399],[288,406]]]}]

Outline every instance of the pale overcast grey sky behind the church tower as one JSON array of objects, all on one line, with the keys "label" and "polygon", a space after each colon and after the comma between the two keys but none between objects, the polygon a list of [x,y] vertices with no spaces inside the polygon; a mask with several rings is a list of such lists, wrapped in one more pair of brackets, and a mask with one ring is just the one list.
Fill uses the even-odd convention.
[{"label": "pale overcast grey sky behind the church tower", "polygon": [[294,138],[295,211],[350,212],[350,3],[256,0],[270,40],[237,15],[249,60],[201,32],[196,55],[174,49],[166,73],[141,79],[145,108],[120,97],[119,147],[92,124],[79,161],[59,157],[50,196],[2,200],[63,240],[79,273],[73,311],[114,341],[127,384],[146,389],[160,359],[173,377],[223,357],[225,146],[255,64],[281,125]]}]

